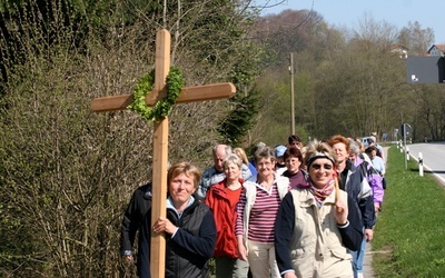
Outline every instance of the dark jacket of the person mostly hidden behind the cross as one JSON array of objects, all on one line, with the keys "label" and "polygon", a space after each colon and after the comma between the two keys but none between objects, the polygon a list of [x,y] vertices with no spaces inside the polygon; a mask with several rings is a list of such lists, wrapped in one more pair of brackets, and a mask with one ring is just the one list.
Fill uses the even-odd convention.
[{"label": "dark jacket of the person mostly hidden behind the cross", "polygon": [[138,237],[138,276],[150,277],[150,225],[151,225],[151,183],[139,187],[132,193],[123,215],[120,234],[120,252],[132,255],[136,232]]}]

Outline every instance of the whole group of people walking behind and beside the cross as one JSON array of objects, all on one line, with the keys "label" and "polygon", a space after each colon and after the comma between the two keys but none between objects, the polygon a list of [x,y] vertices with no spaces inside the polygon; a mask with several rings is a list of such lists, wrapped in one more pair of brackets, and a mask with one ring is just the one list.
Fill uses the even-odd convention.
[{"label": "whole group of people walking behind and beside the cross", "polygon": [[[167,239],[166,277],[363,277],[366,241],[382,208],[382,176],[357,141],[334,136],[303,146],[212,148],[202,175],[189,162],[168,171],[167,218],[151,226],[151,185],[135,191],[121,254],[150,277],[151,232]],[[370,161],[370,162],[368,162]],[[363,165],[364,163],[364,165]],[[363,165],[363,166],[362,166]]]}]

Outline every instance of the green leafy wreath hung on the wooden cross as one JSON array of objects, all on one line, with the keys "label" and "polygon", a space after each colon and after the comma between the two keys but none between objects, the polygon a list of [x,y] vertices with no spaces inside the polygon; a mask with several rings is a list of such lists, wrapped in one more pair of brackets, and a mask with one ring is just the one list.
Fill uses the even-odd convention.
[{"label": "green leafy wreath hung on the wooden cross", "polygon": [[170,115],[184,83],[181,71],[176,67],[171,67],[166,79],[167,97],[156,102],[151,108],[146,105],[146,96],[151,91],[154,81],[155,70],[144,75],[134,89],[132,103],[127,107],[129,110],[139,113],[147,121],[161,120]]}]

